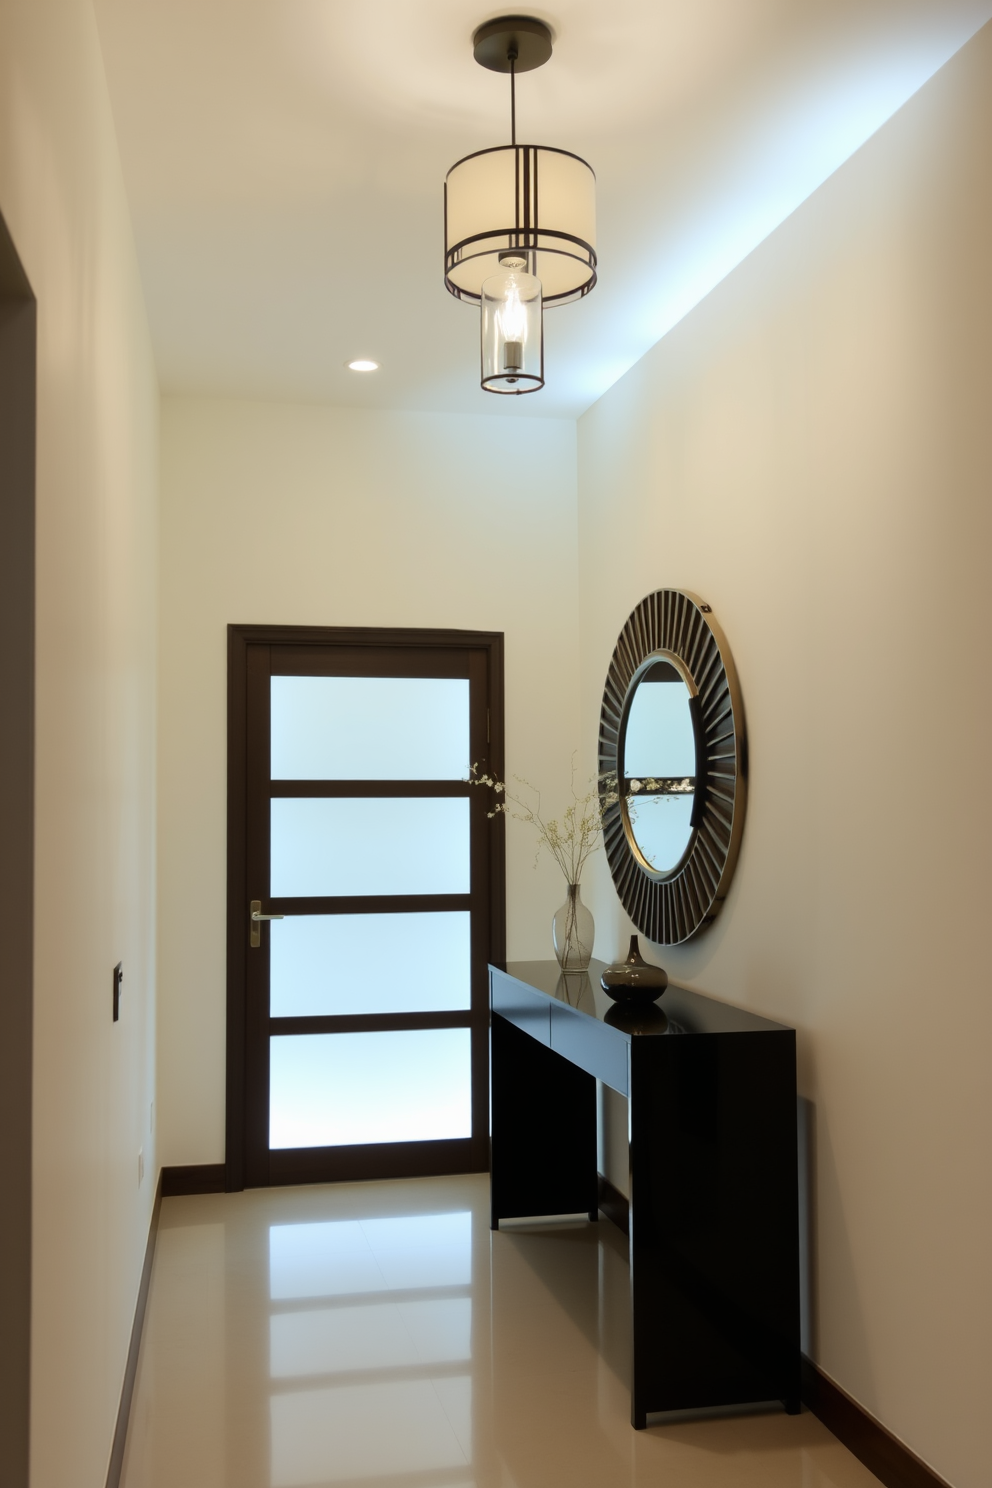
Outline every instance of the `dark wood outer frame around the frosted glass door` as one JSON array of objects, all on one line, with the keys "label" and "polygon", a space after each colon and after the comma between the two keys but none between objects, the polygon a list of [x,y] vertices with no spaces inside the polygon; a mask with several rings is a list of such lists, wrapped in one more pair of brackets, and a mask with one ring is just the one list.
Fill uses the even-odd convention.
[{"label": "dark wood outer frame around the frosted glass door", "polygon": [[[503,635],[494,631],[397,629],[378,626],[228,626],[228,1141],[225,1181],[229,1192],[248,1178],[245,1132],[247,1109],[247,710],[250,646],[348,646],[348,647],[461,647],[483,650],[489,682],[489,763],[503,777]],[[489,958],[506,958],[506,859],[503,818],[488,835]],[[477,1071],[473,1068],[473,1079]],[[437,1144],[443,1146],[442,1143]],[[303,1181],[286,1177],[280,1181]]]}]

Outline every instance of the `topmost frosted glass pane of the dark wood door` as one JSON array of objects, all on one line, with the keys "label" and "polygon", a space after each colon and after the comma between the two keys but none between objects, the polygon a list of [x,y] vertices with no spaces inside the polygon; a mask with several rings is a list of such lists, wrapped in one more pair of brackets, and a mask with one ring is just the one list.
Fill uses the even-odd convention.
[{"label": "topmost frosted glass pane of the dark wood door", "polygon": [[466,677],[272,677],[272,780],[466,780]]}]

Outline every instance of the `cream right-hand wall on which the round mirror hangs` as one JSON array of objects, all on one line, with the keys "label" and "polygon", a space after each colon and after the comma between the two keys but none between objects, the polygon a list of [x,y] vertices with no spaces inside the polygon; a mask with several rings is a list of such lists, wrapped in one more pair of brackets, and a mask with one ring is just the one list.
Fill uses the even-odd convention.
[{"label": "cream right-hand wall on which the round mirror hangs", "polygon": [[[730,897],[654,958],[799,1028],[812,1353],[955,1488],[992,1461],[989,345],[986,27],[579,426],[583,741],[666,585],[748,716]],[[620,949],[602,865],[592,902]]]}]

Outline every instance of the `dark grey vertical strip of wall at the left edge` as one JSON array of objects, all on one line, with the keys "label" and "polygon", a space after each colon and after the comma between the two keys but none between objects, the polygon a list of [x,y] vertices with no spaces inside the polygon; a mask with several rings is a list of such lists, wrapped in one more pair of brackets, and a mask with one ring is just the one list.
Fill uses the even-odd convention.
[{"label": "dark grey vertical strip of wall at the left edge", "polygon": [[0,216],[0,1484],[27,1488],[31,1350],[36,307]]}]

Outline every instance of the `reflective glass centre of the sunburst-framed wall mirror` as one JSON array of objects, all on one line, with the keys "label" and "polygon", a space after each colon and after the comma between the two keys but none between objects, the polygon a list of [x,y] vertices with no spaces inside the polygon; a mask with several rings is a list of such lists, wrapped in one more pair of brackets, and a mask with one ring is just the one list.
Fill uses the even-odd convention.
[{"label": "reflective glass centre of the sunburst-framed wall mirror", "polygon": [[696,737],[689,687],[663,658],[641,674],[628,702],[623,790],[641,857],[656,873],[669,873],[692,838]]}]

